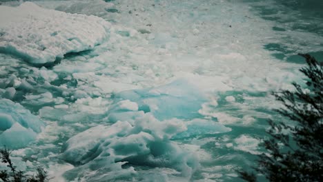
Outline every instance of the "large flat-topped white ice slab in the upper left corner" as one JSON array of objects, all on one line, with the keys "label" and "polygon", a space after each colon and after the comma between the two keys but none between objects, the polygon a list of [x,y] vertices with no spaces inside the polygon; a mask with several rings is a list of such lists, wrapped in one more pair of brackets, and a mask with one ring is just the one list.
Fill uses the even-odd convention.
[{"label": "large flat-topped white ice slab in the upper left corner", "polygon": [[0,51],[30,63],[52,63],[102,43],[109,28],[99,17],[47,10],[30,2],[0,6]]}]

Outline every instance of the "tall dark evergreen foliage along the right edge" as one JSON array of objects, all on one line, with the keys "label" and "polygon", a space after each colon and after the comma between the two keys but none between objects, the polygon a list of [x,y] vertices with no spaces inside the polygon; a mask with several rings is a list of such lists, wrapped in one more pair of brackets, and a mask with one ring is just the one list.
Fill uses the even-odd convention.
[{"label": "tall dark evergreen foliage along the right edge", "polygon": [[[264,140],[267,152],[259,155],[255,172],[268,181],[323,181],[323,68],[314,57],[300,54],[307,66],[306,88],[292,83],[295,91],[273,95],[284,108],[276,110],[293,123],[269,121],[270,139]],[[257,181],[257,175],[239,172],[242,179]]]}]

